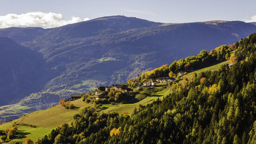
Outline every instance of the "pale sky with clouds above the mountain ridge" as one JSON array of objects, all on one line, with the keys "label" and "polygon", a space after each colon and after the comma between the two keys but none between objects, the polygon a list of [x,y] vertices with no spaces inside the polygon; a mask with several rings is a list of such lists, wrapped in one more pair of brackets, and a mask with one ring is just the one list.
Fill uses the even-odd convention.
[{"label": "pale sky with clouds above the mountain ridge", "polygon": [[155,22],[256,21],[255,0],[0,0],[0,28],[57,27],[103,16]]}]

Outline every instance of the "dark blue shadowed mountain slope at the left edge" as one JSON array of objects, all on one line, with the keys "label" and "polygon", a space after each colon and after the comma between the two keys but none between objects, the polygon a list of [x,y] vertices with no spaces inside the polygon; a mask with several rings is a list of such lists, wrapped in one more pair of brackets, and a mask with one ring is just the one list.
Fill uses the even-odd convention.
[{"label": "dark blue shadowed mountain slope at the left edge", "polygon": [[[0,104],[14,103],[41,90],[53,73],[42,54],[0,37]],[[49,77],[48,77],[49,76]]]}]

